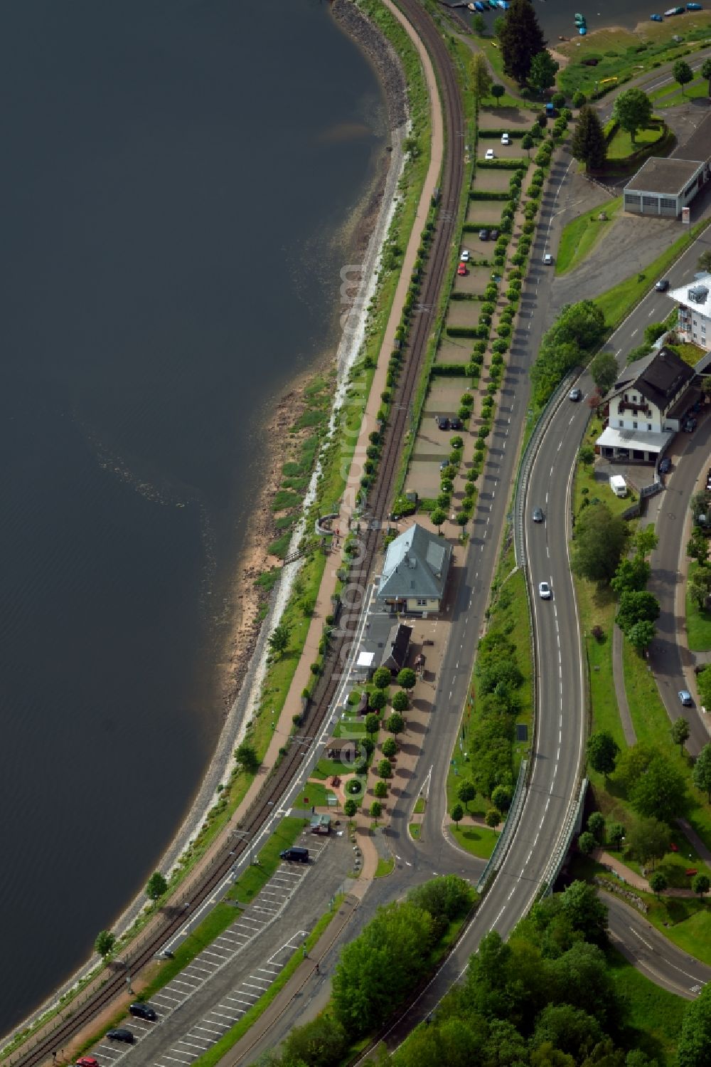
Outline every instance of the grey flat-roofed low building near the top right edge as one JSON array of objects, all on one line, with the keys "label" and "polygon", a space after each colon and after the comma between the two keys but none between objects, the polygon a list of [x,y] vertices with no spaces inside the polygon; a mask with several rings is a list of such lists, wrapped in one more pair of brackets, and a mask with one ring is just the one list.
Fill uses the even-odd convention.
[{"label": "grey flat-roofed low building near the top right edge", "polygon": [[625,186],[625,210],[676,219],[706,185],[710,174],[708,159],[652,156]]}]

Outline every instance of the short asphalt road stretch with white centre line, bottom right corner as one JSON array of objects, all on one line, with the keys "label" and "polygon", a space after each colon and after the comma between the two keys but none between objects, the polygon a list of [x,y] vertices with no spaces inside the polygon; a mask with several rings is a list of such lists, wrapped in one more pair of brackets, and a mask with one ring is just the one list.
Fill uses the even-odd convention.
[{"label": "short asphalt road stretch with white centre line, bottom right corner", "polygon": [[677,949],[635,908],[612,893],[600,895],[608,908],[612,943],[645,977],[686,1000],[711,981],[711,967]]}]

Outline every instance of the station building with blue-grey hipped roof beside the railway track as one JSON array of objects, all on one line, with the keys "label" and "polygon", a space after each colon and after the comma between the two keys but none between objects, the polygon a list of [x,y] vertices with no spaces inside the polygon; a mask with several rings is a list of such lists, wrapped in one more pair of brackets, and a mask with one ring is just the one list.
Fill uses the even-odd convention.
[{"label": "station building with blue-grey hipped roof beside the railway track", "polygon": [[415,523],[388,545],[377,600],[395,611],[439,611],[451,561],[451,545]]}]

